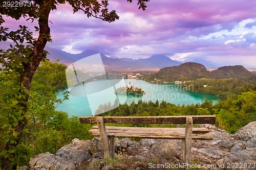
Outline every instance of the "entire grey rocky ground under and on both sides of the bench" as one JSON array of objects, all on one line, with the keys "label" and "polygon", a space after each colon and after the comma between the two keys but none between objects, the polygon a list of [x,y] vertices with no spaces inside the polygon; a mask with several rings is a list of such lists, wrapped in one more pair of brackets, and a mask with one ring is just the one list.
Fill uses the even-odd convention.
[{"label": "entire grey rocky ground under and on both sides of the bench", "polygon": [[[230,135],[217,127],[209,126],[213,140],[193,140],[192,160],[203,164],[216,165],[208,169],[254,169],[256,166],[256,122],[241,128],[236,134]],[[90,152],[89,152],[90,151]],[[148,163],[182,163],[181,140],[142,139],[139,142],[130,139],[115,139],[115,154],[123,158],[118,169],[148,169]],[[102,161],[102,144],[99,137],[92,141],[74,139],[57,151],[39,154],[30,160],[31,169],[80,169],[76,165],[83,163],[81,169],[113,169]],[[136,160],[136,161],[133,161]],[[228,167],[229,165],[229,167]],[[254,166],[253,166],[254,165]],[[161,168],[160,168],[161,169]],[[205,168],[207,169],[207,168]]]}]

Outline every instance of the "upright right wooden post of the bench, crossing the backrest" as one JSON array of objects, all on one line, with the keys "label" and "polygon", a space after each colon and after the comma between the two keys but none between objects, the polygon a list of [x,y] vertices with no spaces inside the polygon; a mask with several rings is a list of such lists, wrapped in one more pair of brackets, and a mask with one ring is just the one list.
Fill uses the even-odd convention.
[{"label": "upright right wooden post of the bench, crossing the backrest", "polygon": [[186,134],[185,134],[185,162],[191,163],[191,149],[192,149],[192,130],[193,118],[186,118]]}]

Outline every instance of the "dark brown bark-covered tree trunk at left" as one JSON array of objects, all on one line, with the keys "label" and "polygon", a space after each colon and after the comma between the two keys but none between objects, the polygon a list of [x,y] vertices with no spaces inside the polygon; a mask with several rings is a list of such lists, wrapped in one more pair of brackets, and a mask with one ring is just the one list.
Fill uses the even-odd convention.
[{"label": "dark brown bark-covered tree trunk at left", "polygon": [[[40,9],[39,11],[42,12],[42,14],[40,14],[38,19],[39,36],[37,38],[36,43],[34,44],[33,52],[29,56],[31,60],[28,63],[23,63],[24,72],[20,77],[20,86],[22,85],[25,86],[28,91],[30,90],[30,87],[31,87],[32,77],[37,67],[39,66],[40,61],[42,60],[42,54],[44,52],[44,48],[48,41],[46,38],[46,35],[50,35],[48,19],[49,19],[51,8],[44,7],[44,5],[45,5],[44,1],[39,1],[39,9]],[[23,117],[23,120],[19,121],[16,127],[12,127],[13,129],[15,129],[15,131],[18,132],[18,135],[16,137],[16,143],[11,143],[10,141],[8,141],[5,147],[5,150],[7,151],[12,147],[16,147],[16,145],[19,144],[19,141],[22,138],[22,132],[27,123],[27,119],[25,116],[28,109],[27,101],[28,101],[28,98],[24,99],[25,103],[22,104],[23,114],[21,116]],[[8,158],[2,157],[2,170],[9,170],[11,168],[10,164],[11,164],[11,161]]]}]

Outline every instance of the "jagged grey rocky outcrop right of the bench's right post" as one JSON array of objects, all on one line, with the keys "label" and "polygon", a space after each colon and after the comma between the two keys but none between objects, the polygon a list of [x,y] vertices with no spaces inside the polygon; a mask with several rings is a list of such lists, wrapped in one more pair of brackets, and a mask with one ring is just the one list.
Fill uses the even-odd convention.
[{"label": "jagged grey rocky outcrop right of the bench's right post", "polygon": [[[254,169],[256,165],[256,122],[251,122],[241,128],[236,134],[225,132],[210,132],[213,140],[193,141],[193,159],[205,164],[217,164],[220,169],[228,168],[228,165],[249,165],[243,169]],[[224,166],[225,164],[225,166]],[[220,166],[222,165],[222,167]]]}]

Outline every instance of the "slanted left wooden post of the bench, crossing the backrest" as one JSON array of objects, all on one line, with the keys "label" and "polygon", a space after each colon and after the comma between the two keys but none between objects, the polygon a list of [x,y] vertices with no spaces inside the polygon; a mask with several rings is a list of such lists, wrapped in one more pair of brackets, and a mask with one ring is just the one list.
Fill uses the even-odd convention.
[{"label": "slanted left wooden post of the bench, crossing the backrest", "polygon": [[106,127],[104,124],[103,117],[97,117],[97,125],[98,125],[99,135],[100,135],[101,142],[102,142],[104,156],[111,156],[110,155],[110,142],[109,142],[108,135],[106,135]]}]

